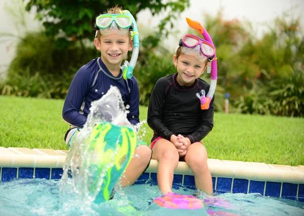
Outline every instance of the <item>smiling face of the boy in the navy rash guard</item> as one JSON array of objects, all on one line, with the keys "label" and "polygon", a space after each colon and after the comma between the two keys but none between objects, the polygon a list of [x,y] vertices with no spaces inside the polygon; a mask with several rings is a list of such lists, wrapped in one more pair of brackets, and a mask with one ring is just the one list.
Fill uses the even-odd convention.
[{"label": "smiling face of the boy in the navy rash guard", "polygon": [[113,31],[109,35],[101,35],[100,41],[94,39],[97,50],[101,52],[101,59],[105,65],[118,65],[127,57],[128,51],[133,48],[133,40],[129,35],[120,35]]}]

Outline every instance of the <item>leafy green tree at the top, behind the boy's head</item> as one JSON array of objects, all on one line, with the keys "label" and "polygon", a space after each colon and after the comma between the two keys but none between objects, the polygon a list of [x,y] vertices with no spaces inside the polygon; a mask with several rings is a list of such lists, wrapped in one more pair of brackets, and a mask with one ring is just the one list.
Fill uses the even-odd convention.
[{"label": "leafy green tree at the top, behind the boy's head", "polygon": [[165,26],[167,24],[173,26],[176,15],[189,7],[189,0],[168,0],[166,3],[161,0],[118,0],[115,2],[107,0],[30,0],[26,10],[36,10],[37,18],[43,21],[46,33],[51,37],[58,37],[57,45],[66,48],[74,41],[92,39],[96,16],[106,13],[108,8],[115,5],[129,10],[135,19],[136,14],[146,8],[149,8],[153,15],[169,9],[168,16],[159,24],[159,34],[156,34],[158,37],[155,37],[154,40],[149,38],[150,43],[157,46],[159,35],[168,34],[169,30],[165,29]]}]

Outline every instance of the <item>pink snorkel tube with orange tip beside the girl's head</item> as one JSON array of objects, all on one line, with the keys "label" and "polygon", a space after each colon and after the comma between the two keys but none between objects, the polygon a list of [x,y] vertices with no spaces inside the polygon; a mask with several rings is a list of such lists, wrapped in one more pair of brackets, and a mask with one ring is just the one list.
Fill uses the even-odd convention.
[{"label": "pink snorkel tube with orange tip beside the girl's head", "polygon": [[[208,32],[206,31],[206,29],[201,25],[200,22],[198,21],[194,21],[192,19],[189,19],[186,17],[186,21],[188,23],[188,25],[192,28],[194,28],[195,30],[199,31],[204,39],[206,41],[208,41],[210,44],[213,45],[213,42],[210,38],[210,35],[208,34]],[[214,45],[213,45],[214,46]],[[203,89],[200,93],[197,93],[196,96],[198,98],[200,98],[201,100],[201,109],[202,110],[208,110],[209,109],[209,105],[210,102],[214,96],[214,92],[215,92],[215,88],[216,88],[216,82],[217,82],[217,61],[216,61],[216,53],[214,53],[214,57],[209,58],[209,61],[212,61],[211,63],[211,83],[210,83],[210,89],[209,92],[207,94],[207,96],[205,96],[205,90]]]}]

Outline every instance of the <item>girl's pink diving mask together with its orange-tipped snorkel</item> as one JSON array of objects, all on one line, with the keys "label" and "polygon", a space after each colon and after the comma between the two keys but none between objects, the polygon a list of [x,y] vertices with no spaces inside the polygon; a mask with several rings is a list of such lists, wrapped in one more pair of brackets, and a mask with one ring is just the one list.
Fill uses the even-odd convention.
[{"label": "girl's pink diving mask together with its orange-tipped snorkel", "polygon": [[[213,45],[213,42],[206,31],[206,29],[201,25],[200,22],[194,21],[192,19],[189,19],[186,17],[186,21],[188,25],[197,31],[199,31],[205,40],[193,35],[193,34],[186,34],[183,39],[180,41],[179,46],[182,48],[182,52],[184,54],[187,53],[198,53],[198,59],[207,59],[211,63],[211,83],[210,83],[210,89],[205,96],[205,90],[201,90],[199,93],[196,94],[196,96],[201,101],[201,109],[202,110],[208,110],[210,102],[213,98],[215,88],[216,88],[216,81],[217,81],[217,61],[216,61],[216,53],[215,53],[215,47]],[[200,60],[202,61],[202,60]],[[207,73],[209,73],[207,69]]]}]

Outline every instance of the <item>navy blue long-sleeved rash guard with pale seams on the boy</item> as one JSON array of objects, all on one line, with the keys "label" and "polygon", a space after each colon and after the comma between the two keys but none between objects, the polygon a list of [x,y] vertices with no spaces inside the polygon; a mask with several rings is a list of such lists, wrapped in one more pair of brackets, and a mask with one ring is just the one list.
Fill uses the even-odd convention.
[{"label": "navy blue long-sleeved rash guard with pale seams on the boy", "polygon": [[136,78],[125,80],[122,71],[114,77],[101,58],[96,58],[82,66],[75,74],[67,92],[62,118],[71,127],[82,128],[90,113],[91,102],[100,99],[116,86],[121,92],[125,106],[129,105],[127,118],[132,125],[139,123],[139,90]]}]

